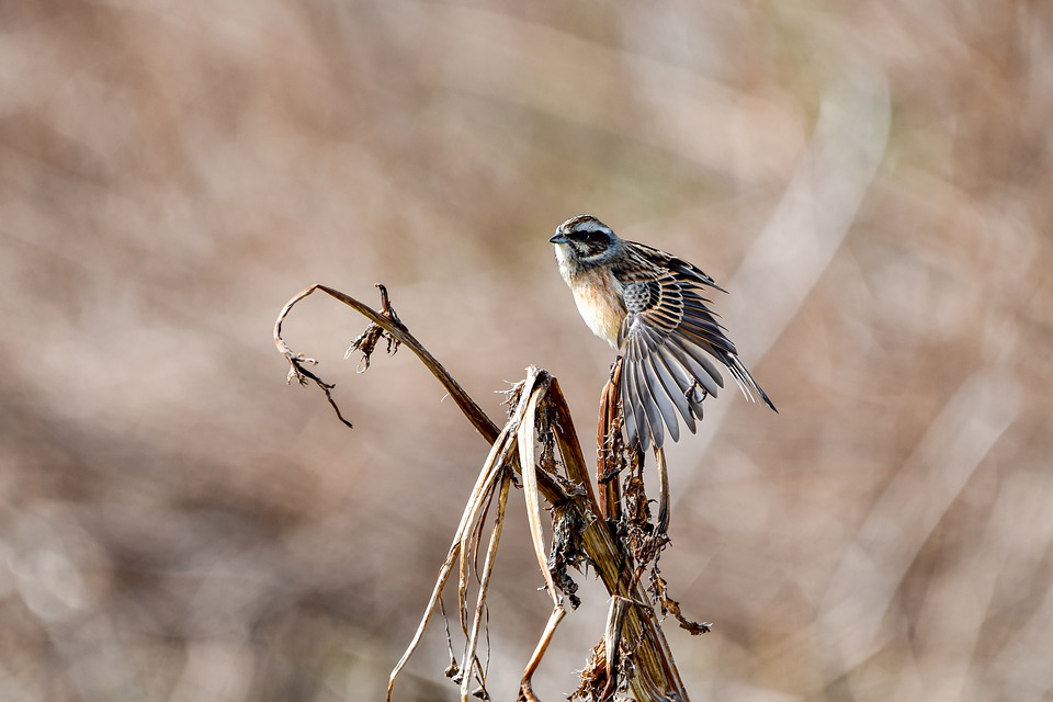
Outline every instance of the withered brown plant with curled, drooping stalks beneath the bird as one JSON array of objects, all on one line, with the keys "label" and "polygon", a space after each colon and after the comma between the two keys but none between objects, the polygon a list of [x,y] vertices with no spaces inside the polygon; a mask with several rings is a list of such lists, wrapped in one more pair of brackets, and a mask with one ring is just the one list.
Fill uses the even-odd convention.
[{"label": "withered brown plant with curled, drooping stalks beneath the bird", "polygon": [[[534,554],[553,602],[548,623],[524,669],[519,699],[536,700],[532,677],[559,622],[566,616],[564,597],[569,599],[571,608],[577,605],[577,598],[574,595],[577,586],[570,578],[567,566],[579,568],[581,564],[591,564],[612,597],[611,616],[604,645],[598,646],[595,650],[596,655],[602,655],[602,661],[596,661],[595,666],[587,668],[592,676],[588,697],[581,697],[586,689],[582,682],[576,699],[609,700],[616,691],[627,689],[637,700],[686,702],[687,691],[661,632],[655,607],[652,604],[653,601],[657,601],[663,614],[672,612],[682,620],[679,605],[666,596],[665,580],[660,580],[657,571],[657,555],[667,541],[664,535],[667,518],[663,516],[668,512],[665,506],[659,509],[657,531],[660,537],[658,537],[654,533],[655,525],[649,523],[647,499],[643,492],[642,480],[639,486],[627,490],[624,497],[618,484],[619,475],[626,467],[630,468],[631,478],[639,479],[643,463],[638,451],[635,449],[626,451],[621,444],[621,415],[618,405],[620,364],[612,367],[611,381],[604,388],[597,433],[598,478],[603,496],[601,498],[603,508],[601,508],[589,477],[581,443],[570,420],[566,398],[554,377],[543,370],[528,369],[526,377],[517,384],[511,393],[509,404],[514,406],[514,409],[509,412],[503,428],[499,429],[442,364],[409,332],[390,306],[387,291],[382,285],[377,287],[382,296],[380,310],[374,310],[325,285],[312,285],[284,306],[274,325],[274,343],[290,363],[290,380],[296,378],[303,385],[315,382],[326,393],[327,399],[341,421],[350,427],[350,422],[343,419],[332,399],[330,390],[333,385],[325,383],[307,370],[305,365],[313,365],[315,362],[303,354],[294,353],[282,339],[282,322],[293,306],[316,290],[320,290],[370,320],[370,327],[349,349],[349,353],[355,350],[362,352],[363,361],[360,366],[362,371],[369,367],[370,354],[382,340],[387,341],[389,353],[397,350],[398,344],[405,344],[439,380],[473,427],[491,445],[465,505],[450,550],[439,569],[420,624],[392,671],[387,691],[388,701],[392,699],[396,678],[420,645],[435,609],[442,609],[442,592],[454,568],[458,573],[458,620],[465,637],[462,660],[467,663],[458,667],[456,661],[452,660],[448,672],[460,682],[461,699],[465,702],[469,694],[489,699],[486,691],[486,668],[479,661],[478,645],[480,633],[486,625],[487,595],[505,522],[508,492],[512,483],[511,472],[514,471],[522,476]],[[539,445],[542,448],[540,455]],[[559,461],[556,460],[556,451],[558,451]],[[659,455],[658,462],[664,469],[664,456]],[[667,476],[661,478],[661,490],[665,495],[668,494]],[[467,604],[469,564],[477,564],[488,521],[487,516],[490,513],[495,497],[497,508],[494,510],[482,574],[477,575],[478,592],[475,605],[469,611]],[[633,509],[626,510],[623,501],[630,498],[636,500],[636,505]],[[551,545],[546,545],[544,535],[542,500],[553,508]],[[626,521],[630,514],[636,514],[633,523]],[[630,526],[636,530],[633,533],[637,536],[644,534],[647,539],[635,545],[632,539],[625,540],[624,536]],[[615,539],[615,535],[619,537]],[[653,568],[650,592],[644,588],[639,577],[643,569],[648,566]],[[655,578],[659,579],[655,580]],[[675,607],[670,607],[670,603]],[[469,691],[473,681],[478,683],[478,688]]]}]

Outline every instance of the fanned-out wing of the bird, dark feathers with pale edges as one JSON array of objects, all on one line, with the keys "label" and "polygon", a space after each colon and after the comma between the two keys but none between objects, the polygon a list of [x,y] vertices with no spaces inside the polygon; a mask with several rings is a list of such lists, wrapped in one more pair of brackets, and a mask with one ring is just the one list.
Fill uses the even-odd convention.
[{"label": "fanned-out wing of the bird, dark feathers with pale edges", "polygon": [[613,271],[624,286],[627,310],[619,348],[624,354],[622,408],[630,445],[638,437],[644,449],[650,440],[661,446],[666,431],[678,441],[678,415],[694,433],[702,400],[724,387],[711,358],[727,367],[747,398],[757,393],[774,409],[701,294],[703,286],[721,290],[713,279],[657,249],[635,242],[630,247],[634,256]]}]

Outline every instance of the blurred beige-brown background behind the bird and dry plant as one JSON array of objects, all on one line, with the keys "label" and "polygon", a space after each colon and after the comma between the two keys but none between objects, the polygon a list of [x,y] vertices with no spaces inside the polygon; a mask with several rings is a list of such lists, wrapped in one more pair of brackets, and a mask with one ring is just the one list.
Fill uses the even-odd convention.
[{"label": "blurred beige-brown background behind the bird and dry plant", "polygon": [[[0,3],[0,698],[382,699],[487,445],[313,296],[348,430],[275,315],[384,282],[491,417],[534,364],[588,438],[546,239],[590,213],[731,292],[780,409],[670,450],[692,699],[1053,699],[1051,123],[1033,0]],[[495,699],[550,609],[520,495]],[[455,698],[444,649],[396,699]]]}]

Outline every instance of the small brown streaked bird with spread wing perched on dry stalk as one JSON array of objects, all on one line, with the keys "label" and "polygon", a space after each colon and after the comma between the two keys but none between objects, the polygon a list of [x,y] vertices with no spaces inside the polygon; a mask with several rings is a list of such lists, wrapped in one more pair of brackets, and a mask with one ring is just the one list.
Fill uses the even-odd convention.
[{"label": "small brown streaked bird with spread wing perched on dry stalk", "polygon": [[548,241],[585,322],[624,358],[622,414],[630,446],[638,439],[644,450],[649,440],[661,448],[663,423],[678,441],[678,412],[694,433],[702,400],[724,387],[710,356],[747,399],[755,401],[757,394],[779,411],[710,310],[705,288],[727,292],[712,278],[671,253],[620,239],[591,215],[567,219]]}]

